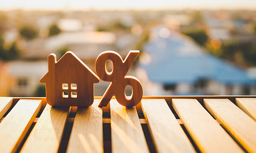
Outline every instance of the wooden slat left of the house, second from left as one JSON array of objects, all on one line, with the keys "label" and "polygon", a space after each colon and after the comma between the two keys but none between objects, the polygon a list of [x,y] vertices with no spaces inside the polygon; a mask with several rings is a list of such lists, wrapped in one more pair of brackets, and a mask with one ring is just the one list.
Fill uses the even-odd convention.
[{"label": "wooden slat left of the house, second from left", "polygon": [[22,99],[0,123],[0,153],[15,152],[26,135],[42,100]]}]

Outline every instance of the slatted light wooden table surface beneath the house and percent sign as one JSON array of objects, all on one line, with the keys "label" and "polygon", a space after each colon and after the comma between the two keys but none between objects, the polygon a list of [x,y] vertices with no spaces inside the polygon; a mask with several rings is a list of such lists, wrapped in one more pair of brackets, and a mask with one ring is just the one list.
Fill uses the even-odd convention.
[{"label": "slatted light wooden table surface beneath the house and percent sign", "polygon": [[144,96],[132,108],[0,97],[0,153],[256,153],[256,96]]}]

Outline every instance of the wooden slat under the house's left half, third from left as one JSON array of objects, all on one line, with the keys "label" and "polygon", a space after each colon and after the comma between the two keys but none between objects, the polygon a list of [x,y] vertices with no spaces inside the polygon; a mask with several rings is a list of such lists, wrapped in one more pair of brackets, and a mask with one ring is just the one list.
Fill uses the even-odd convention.
[{"label": "wooden slat under the house's left half, third from left", "polygon": [[70,107],[46,105],[23,145],[23,153],[56,153],[61,142]]}]

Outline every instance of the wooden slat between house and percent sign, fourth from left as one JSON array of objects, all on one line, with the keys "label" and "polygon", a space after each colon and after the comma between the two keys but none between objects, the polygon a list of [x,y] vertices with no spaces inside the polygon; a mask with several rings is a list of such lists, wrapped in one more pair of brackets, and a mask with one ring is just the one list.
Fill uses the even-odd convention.
[{"label": "wooden slat between house and percent sign, fourth from left", "polygon": [[78,107],[67,153],[102,153],[103,126],[100,99],[89,107]]}]

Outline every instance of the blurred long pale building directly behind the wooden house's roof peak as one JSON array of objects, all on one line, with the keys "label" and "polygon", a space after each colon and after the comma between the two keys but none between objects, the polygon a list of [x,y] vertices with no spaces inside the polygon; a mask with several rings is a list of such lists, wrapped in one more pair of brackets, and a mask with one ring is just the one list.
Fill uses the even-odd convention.
[{"label": "blurred long pale building directly behind the wooden house's roof peak", "polygon": [[111,32],[63,32],[45,42],[48,51],[56,51],[67,45],[81,60],[96,57],[106,50],[115,50],[116,36]]}]

